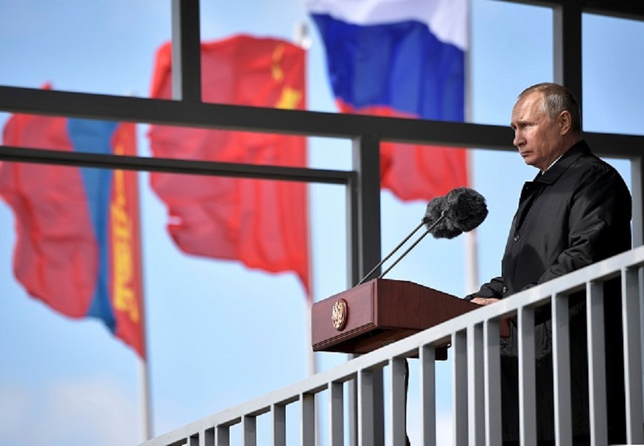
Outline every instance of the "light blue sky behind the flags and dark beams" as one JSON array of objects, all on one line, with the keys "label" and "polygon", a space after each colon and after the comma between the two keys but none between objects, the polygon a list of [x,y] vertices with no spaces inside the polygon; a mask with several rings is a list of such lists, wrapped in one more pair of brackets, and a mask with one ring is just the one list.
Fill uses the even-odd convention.
[{"label": "light blue sky behind the flags and dark beams", "polygon": [[[249,3],[201,1],[203,38],[245,32],[290,39],[297,23],[310,25],[302,0]],[[518,93],[552,80],[552,14],[499,1],[472,4],[473,121],[507,125]],[[583,25],[584,129],[642,134],[644,24],[584,16]],[[145,97],[154,51],[169,40],[170,27],[170,1],[0,0],[0,84],[37,88],[49,81],[60,90]],[[310,30],[309,108],[335,111],[321,42]],[[7,118],[0,112],[0,125]],[[147,155],[145,129],[138,131]],[[350,143],[312,138],[310,160],[347,169]],[[628,162],[610,162],[630,182]],[[479,275],[486,280],[499,273],[519,190],[535,171],[516,153],[486,150],[473,152],[473,167],[474,188],[490,210],[478,230]],[[146,174],[140,186],[154,432],[306,377],[306,306],[295,276],[185,256],[166,234],[165,210]],[[310,193],[314,294],[323,299],[349,286],[345,193],[321,185]],[[419,223],[426,203],[400,203],[387,192],[382,202],[387,253]],[[138,358],[101,323],[71,321],[28,297],[12,275],[13,245],[13,216],[0,202],[0,443],[138,443]],[[462,238],[427,238],[388,277],[463,295],[463,251]],[[317,359],[325,369],[346,356]],[[449,362],[438,379],[445,382],[438,408],[449,417]]]}]

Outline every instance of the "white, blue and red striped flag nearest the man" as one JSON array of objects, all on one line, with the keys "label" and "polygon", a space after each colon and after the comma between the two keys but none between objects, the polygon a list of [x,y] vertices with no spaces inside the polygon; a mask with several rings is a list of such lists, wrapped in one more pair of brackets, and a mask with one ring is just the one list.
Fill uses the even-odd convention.
[{"label": "white, blue and red striped flag nearest the man", "polygon": [[[467,0],[308,0],[341,112],[464,121]],[[403,200],[467,186],[464,149],[382,143],[381,186]]]}]

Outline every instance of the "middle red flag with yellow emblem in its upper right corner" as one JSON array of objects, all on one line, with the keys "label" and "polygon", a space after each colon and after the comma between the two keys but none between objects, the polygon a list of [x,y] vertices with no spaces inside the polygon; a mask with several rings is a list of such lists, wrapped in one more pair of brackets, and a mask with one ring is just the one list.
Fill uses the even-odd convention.
[{"label": "middle red flag with yellow emblem in its upper right corner", "polygon": [[[283,40],[238,35],[201,44],[204,102],[304,110],[305,51]],[[156,54],[151,97],[171,99],[171,45]],[[154,156],[306,166],[301,136],[152,125]],[[238,260],[272,273],[293,271],[309,295],[306,184],[151,173],[182,251]]]}]

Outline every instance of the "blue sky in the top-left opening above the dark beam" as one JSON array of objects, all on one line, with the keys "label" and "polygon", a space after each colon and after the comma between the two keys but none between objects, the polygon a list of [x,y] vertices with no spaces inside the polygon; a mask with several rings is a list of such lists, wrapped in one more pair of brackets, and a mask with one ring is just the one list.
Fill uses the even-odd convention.
[{"label": "blue sky in the top-left opening above the dark beam", "polygon": [[3,2],[0,85],[147,97],[170,16],[168,1]]}]

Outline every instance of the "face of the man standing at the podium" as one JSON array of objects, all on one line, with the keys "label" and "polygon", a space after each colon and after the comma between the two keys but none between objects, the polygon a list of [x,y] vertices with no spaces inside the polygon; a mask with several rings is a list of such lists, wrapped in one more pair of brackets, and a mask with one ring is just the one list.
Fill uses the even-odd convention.
[{"label": "face of the man standing at the podium", "polygon": [[525,164],[545,171],[565,149],[559,120],[551,120],[541,108],[543,93],[532,92],[522,97],[512,109],[512,141]]}]

